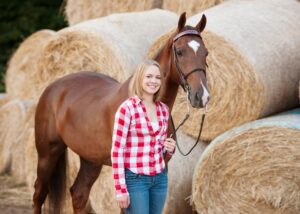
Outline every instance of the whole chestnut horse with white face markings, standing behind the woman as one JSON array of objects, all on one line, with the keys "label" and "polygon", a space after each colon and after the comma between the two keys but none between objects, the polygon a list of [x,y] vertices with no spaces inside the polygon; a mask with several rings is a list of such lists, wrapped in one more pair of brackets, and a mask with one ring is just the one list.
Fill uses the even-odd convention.
[{"label": "whole chestnut horse with white face markings, standing behind the woman", "polygon": [[[193,107],[205,106],[209,98],[205,73],[208,52],[200,36],[206,17],[203,15],[196,27],[185,26],[185,22],[183,13],[176,32],[155,57],[166,79],[162,101],[170,110],[179,85],[187,91]],[[91,187],[102,165],[111,166],[114,115],[128,98],[129,82],[130,78],[120,84],[104,74],[79,72],[58,79],[45,89],[35,114],[35,214],[41,213],[47,195],[52,212],[60,212],[67,147],[80,156],[80,169],[70,188],[73,210],[86,212]]]}]

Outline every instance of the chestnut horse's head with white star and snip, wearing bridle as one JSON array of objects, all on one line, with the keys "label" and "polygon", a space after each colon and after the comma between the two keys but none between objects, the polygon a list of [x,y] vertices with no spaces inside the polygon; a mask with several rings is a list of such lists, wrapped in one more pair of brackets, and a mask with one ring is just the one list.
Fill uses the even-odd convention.
[{"label": "chestnut horse's head with white star and snip, wearing bridle", "polygon": [[185,26],[186,16],[183,13],[178,21],[176,33],[172,38],[172,72],[175,81],[188,93],[193,107],[206,106],[209,92],[206,80],[206,57],[208,51],[201,37],[206,25],[202,16],[196,27]]}]

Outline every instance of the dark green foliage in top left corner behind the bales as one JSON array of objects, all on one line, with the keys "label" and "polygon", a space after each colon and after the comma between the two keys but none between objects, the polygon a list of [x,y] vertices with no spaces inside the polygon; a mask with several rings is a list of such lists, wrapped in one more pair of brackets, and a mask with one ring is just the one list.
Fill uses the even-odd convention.
[{"label": "dark green foliage in top left corner behind the bales", "polygon": [[0,1],[0,92],[5,91],[8,60],[24,39],[41,29],[67,26],[64,4],[64,0]]}]

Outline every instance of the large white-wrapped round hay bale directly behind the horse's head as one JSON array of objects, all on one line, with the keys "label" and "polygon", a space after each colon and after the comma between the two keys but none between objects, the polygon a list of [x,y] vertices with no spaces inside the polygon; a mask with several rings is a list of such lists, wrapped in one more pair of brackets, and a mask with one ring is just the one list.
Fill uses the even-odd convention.
[{"label": "large white-wrapped round hay bale directly behind the horse's head", "polygon": [[[209,50],[207,78],[211,100],[203,141],[299,105],[299,3],[233,0],[204,13],[208,20],[203,39]],[[195,26],[201,16],[189,18],[188,24]],[[161,38],[167,38],[171,32]],[[148,56],[154,56],[162,43],[156,41]],[[186,113],[185,96],[181,90],[174,105],[176,124]],[[192,116],[184,125],[185,133],[197,137],[202,113],[203,110],[192,109]]]}]

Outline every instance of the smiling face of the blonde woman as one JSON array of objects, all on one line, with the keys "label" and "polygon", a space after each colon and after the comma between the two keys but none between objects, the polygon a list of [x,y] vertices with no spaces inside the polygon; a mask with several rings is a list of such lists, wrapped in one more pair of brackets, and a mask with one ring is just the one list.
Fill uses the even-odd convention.
[{"label": "smiling face of the blonde woman", "polygon": [[155,65],[148,66],[142,82],[143,92],[148,95],[154,95],[159,90],[160,85],[161,76],[159,68]]}]

